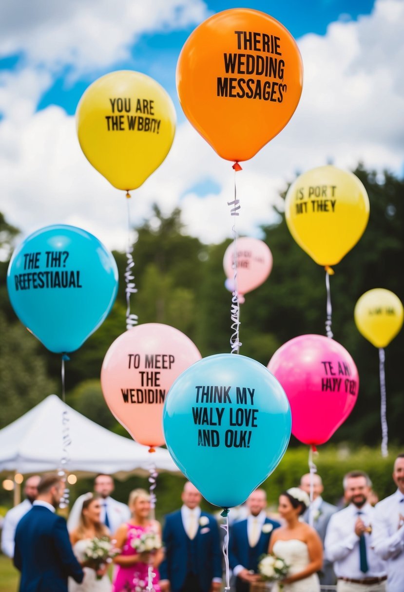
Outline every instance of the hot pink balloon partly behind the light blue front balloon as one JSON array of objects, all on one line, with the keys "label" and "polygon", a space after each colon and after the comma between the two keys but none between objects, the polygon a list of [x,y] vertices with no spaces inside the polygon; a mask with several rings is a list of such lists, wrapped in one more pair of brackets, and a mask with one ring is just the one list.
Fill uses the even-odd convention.
[{"label": "hot pink balloon partly behind the light blue front balloon", "polygon": [[357,367],[334,339],[294,337],[274,353],[268,370],[286,392],[292,433],[304,444],[329,440],[354,408],[359,390]]}]

